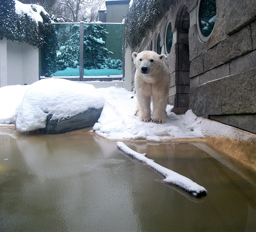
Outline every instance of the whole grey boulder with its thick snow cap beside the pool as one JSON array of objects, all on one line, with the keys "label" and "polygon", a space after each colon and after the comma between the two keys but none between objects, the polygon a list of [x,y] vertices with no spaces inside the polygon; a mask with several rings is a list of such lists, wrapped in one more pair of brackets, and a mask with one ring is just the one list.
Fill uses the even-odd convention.
[{"label": "whole grey boulder with its thick snow cap beside the pool", "polygon": [[16,128],[57,134],[93,126],[100,117],[104,98],[89,84],[64,79],[33,83],[16,108]]}]

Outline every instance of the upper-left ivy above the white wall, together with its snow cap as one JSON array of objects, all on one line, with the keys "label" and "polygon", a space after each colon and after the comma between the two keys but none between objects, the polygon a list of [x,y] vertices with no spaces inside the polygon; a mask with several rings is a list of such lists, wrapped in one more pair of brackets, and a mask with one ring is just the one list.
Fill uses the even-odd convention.
[{"label": "upper-left ivy above the white wall, together with its snow cap", "polygon": [[6,37],[11,41],[26,42],[40,48],[45,43],[49,27],[52,27],[52,23],[43,7],[36,4],[22,4],[14,0],[1,0],[1,40]]}]

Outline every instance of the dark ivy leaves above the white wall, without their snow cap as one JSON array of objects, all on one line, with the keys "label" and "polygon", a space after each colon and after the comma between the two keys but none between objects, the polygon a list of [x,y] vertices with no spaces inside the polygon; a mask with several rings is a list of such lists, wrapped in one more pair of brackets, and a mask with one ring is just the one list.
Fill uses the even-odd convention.
[{"label": "dark ivy leaves above the white wall, without their snow cap", "polygon": [[42,22],[35,22],[27,14],[16,14],[14,0],[1,0],[0,4],[0,39],[26,42],[35,47],[42,47],[45,39],[53,33],[53,24],[49,15],[40,13]]}]

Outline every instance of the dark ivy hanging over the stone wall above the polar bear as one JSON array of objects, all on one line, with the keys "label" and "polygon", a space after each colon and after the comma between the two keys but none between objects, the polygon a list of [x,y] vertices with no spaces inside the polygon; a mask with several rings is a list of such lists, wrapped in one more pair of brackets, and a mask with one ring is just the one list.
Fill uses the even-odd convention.
[{"label": "dark ivy hanging over the stone wall above the polar bear", "polygon": [[124,18],[125,46],[136,48],[171,8],[174,0],[133,0]]}]

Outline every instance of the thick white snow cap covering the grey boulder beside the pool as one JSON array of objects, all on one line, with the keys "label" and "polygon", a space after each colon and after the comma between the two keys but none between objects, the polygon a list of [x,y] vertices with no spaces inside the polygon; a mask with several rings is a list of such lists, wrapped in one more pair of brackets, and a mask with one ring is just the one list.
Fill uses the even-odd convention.
[{"label": "thick white snow cap covering the grey boulder beside the pool", "polygon": [[69,118],[88,108],[102,108],[104,98],[89,84],[64,79],[44,79],[33,83],[17,107],[16,128],[31,131],[46,127],[46,119]]}]

